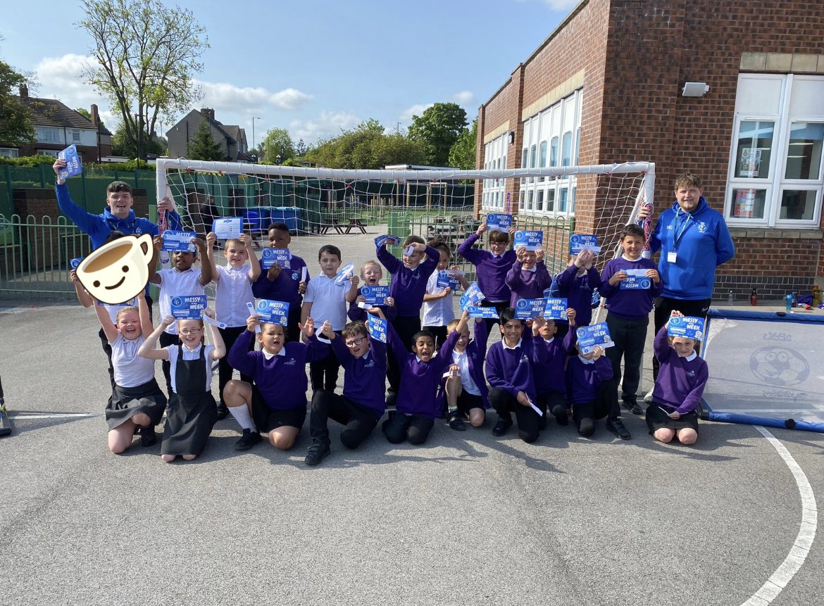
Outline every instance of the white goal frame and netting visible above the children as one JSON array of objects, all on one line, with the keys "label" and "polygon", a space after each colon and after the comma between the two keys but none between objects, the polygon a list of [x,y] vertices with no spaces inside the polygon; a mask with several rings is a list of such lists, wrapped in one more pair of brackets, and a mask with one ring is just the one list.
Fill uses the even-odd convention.
[{"label": "white goal frame and netting visible above the children", "polygon": [[[336,245],[357,269],[374,259],[374,239],[383,234],[444,240],[454,262],[471,273],[457,246],[487,213],[510,213],[518,230],[544,233],[545,262],[557,273],[569,259],[571,234],[597,235],[599,268],[616,253],[621,228],[634,221],[640,203],[653,201],[653,166],[336,170],[162,158],[157,197],[174,198],[185,228],[199,235],[216,218],[242,217],[260,248],[269,245],[269,225],[284,223],[293,235],[290,249],[312,274],[322,245]],[[477,246],[486,248],[486,240]],[[390,249],[400,254],[399,246]]]}]

